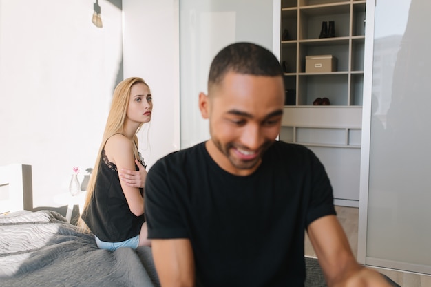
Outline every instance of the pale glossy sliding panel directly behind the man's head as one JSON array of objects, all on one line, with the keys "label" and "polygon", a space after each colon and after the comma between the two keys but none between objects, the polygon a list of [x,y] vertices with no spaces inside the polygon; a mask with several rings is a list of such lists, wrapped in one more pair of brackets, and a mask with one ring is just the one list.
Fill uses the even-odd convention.
[{"label": "pale glossy sliding panel directly behind the man's head", "polygon": [[[274,16],[274,6],[279,8],[278,16]],[[273,25],[274,21],[277,24]],[[181,148],[209,138],[198,96],[207,92],[209,66],[215,54],[238,41],[257,43],[278,54],[279,47],[273,48],[273,38],[278,39],[278,35],[280,0],[180,1]]]}]

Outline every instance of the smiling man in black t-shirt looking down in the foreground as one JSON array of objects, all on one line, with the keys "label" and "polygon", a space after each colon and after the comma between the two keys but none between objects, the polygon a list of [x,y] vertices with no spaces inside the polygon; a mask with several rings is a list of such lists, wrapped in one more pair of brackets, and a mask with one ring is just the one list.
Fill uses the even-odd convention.
[{"label": "smiling man in black t-shirt looking down in the foreground", "polygon": [[269,50],[235,43],[215,56],[208,95],[199,95],[211,139],[158,160],[147,176],[162,287],[303,286],[304,230],[329,286],[389,286],[357,264],[317,157],[276,141],[283,105],[282,67]]}]

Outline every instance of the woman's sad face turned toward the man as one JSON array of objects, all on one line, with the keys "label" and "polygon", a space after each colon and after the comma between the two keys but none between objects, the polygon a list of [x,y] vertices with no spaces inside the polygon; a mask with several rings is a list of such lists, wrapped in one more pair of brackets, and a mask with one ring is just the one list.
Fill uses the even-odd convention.
[{"label": "woman's sad face turned toward the man", "polygon": [[136,123],[148,123],[151,120],[153,101],[151,91],[144,83],[136,83],[130,89],[129,106],[126,116]]}]

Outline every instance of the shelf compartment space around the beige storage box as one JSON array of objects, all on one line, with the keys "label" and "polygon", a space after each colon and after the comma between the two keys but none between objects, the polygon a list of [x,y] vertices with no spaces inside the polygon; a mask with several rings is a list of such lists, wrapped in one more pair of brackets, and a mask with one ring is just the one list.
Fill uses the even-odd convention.
[{"label": "shelf compartment space around the beige storage box", "polygon": [[[323,45],[323,44],[327,45]],[[315,41],[304,41],[299,43],[299,59],[301,59],[300,72],[305,72],[305,57],[318,55],[333,55],[337,58],[337,72],[347,72],[349,65],[348,40],[323,41],[317,45]]]}]

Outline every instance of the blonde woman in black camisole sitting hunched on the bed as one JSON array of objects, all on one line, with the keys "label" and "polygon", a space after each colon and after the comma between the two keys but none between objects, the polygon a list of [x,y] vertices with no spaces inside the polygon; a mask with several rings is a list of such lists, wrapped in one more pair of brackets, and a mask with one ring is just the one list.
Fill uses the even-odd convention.
[{"label": "blonde woman in black camisole sitting hunched on the bed", "polygon": [[99,248],[151,245],[144,218],[147,171],[136,133],[151,120],[152,109],[142,78],[127,78],[116,86],[81,216],[81,226],[92,231]]}]

